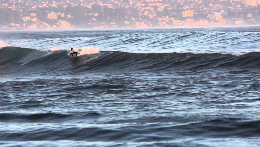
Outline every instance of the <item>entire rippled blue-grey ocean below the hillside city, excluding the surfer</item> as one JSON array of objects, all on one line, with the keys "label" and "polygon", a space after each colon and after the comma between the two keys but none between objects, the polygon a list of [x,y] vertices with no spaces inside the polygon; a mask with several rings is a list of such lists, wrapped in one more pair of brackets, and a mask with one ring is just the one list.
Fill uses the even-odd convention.
[{"label": "entire rippled blue-grey ocean below the hillside city, excluding the surfer", "polygon": [[260,27],[0,40],[0,146],[260,146]]}]

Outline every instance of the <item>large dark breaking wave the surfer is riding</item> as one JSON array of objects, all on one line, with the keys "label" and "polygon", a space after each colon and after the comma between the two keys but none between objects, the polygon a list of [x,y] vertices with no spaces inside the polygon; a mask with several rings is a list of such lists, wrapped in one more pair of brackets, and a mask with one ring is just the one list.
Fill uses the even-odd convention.
[{"label": "large dark breaking wave the surfer is riding", "polygon": [[[16,67],[16,68],[13,68]],[[103,51],[97,54],[81,55],[69,60],[68,51],[41,51],[29,48],[5,47],[0,49],[0,69],[10,73],[10,68],[18,71],[38,73],[111,70],[203,70],[218,68],[241,68],[258,70],[260,52],[250,52],[240,56],[231,54],[193,53],[129,53]],[[13,71],[12,70],[12,71]]]}]

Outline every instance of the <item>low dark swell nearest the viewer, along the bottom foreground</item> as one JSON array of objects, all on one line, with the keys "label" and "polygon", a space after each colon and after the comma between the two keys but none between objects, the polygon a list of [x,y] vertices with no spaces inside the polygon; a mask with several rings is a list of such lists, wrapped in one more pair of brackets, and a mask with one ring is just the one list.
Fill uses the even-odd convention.
[{"label": "low dark swell nearest the viewer, along the bottom foreground", "polygon": [[[239,122],[235,118],[222,118],[180,124],[170,123],[164,124],[163,127],[159,123],[148,123],[146,127],[144,127],[143,124],[125,123],[124,126],[122,124],[116,124],[114,127],[105,127],[104,124],[89,126],[75,125],[71,127],[60,125],[59,129],[52,129],[47,124],[44,124],[37,130],[25,130],[23,132],[13,133],[3,132],[0,135],[0,140],[86,140],[87,138],[90,141],[131,140],[132,142],[149,142],[151,140],[171,140],[172,135],[176,135],[176,137],[178,135],[178,137],[194,136],[194,133],[200,137],[258,137],[260,129],[258,124],[259,121]],[[54,123],[52,125],[57,124]],[[150,132],[153,135],[145,135],[143,134],[144,132]]]}]

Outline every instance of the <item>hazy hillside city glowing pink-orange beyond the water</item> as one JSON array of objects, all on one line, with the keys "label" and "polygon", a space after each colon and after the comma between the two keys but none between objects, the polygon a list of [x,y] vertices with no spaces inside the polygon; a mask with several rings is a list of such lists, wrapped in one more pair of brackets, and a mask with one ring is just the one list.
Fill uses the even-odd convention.
[{"label": "hazy hillside city glowing pink-orange beyond the water", "polygon": [[260,24],[260,0],[0,0],[0,29]]}]

